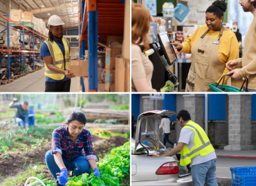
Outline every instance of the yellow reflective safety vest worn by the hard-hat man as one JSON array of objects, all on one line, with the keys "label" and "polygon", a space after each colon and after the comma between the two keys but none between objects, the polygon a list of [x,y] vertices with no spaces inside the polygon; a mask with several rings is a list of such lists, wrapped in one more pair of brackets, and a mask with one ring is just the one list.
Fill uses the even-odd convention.
[{"label": "yellow reflective safety vest worn by the hard-hat man", "polygon": [[[69,43],[66,39],[62,38],[62,42],[65,49],[65,63],[66,63],[66,70],[69,68]],[[57,45],[55,41],[51,42],[48,39],[44,40],[44,43],[48,46],[49,51],[51,52],[51,56],[53,58],[53,65],[55,67],[60,68],[62,70],[65,70],[64,68],[64,58],[62,50],[60,50],[60,47]],[[64,74],[58,74],[56,72],[53,72],[47,68],[46,63],[44,64],[44,67],[46,68],[46,71],[44,74],[48,76],[51,79],[54,80],[62,80],[64,79]]]}]

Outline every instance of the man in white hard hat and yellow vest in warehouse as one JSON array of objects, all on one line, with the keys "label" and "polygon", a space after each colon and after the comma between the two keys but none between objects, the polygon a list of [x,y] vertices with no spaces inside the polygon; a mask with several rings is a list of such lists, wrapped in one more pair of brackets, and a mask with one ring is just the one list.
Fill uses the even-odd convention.
[{"label": "man in white hard hat and yellow vest in warehouse", "polygon": [[41,46],[41,57],[45,61],[45,92],[70,92],[71,78],[75,77],[69,69],[70,46],[63,38],[64,23],[60,17],[53,15],[48,20],[50,26],[48,39]]}]

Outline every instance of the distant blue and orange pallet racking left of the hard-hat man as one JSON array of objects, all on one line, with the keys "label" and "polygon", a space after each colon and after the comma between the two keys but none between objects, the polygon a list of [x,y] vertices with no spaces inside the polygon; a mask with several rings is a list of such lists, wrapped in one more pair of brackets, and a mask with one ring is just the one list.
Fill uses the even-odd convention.
[{"label": "distant blue and orange pallet racking left of the hard-hat man", "polygon": [[[6,37],[7,37],[7,48],[8,48],[8,49],[0,49],[0,52],[4,53],[3,55],[0,56],[0,63],[1,63],[1,59],[3,57],[7,56],[7,58],[8,58],[8,64],[7,64],[7,66],[8,66],[8,77],[10,78],[10,63],[12,63],[12,62],[16,63],[17,62],[17,59],[16,59],[17,57],[19,57],[19,63],[21,63],[21,59],[23,59],[23,66],[25,66],[25,63],[26,63],[25,62],[26,61],[25,57],[28,57],[29,63],[31,61],[33,61],[33,70],[35,70],[35,57],[38,57],[40,52],[39,51],[24,50],[24,48],[25,48],[24,36],[28,35],[29,36],[28,41],[32,40],[33,49],[34,49],[34,46],[35,46],[35,39],[39,39],[39,43],[41,43],[42,39],[47,39],[47,37],[40,34],[37,31],[31,29],[31,28],[27,28],[26,26],[24,26],[24,22],[22,22],[22,24],[20,24],[20,23],[17,23],[17,21],[12,21],[9,18],[9,13],[8,12],[7,12],[6,16],[0,14],[0,17],[7,21],[7,25],[5,25],[3,23],[0,23],[0,25],[2,25],[4,28],[6,28],[2,32],[7,31],[7,36]],[[15,30],[15,31],[20,33],[19,39],[20,39],[20,41],[22,39],[22,45],[23,45],[22,50],[16,50],[16,49],[13,50],[12,48],[10,48],[10,29]],[[5,47],[1,47],[1,48],[5,48]],[[14,55],[12,53],[20,53],[20,54],[15,54]],[[13,59],[13,57],[15,57],[15,59]],[[30,59],[30,57],[32,57],[32,59]],[[41,63],[41,58],[40,57],[39,57],[39,61]]]}]

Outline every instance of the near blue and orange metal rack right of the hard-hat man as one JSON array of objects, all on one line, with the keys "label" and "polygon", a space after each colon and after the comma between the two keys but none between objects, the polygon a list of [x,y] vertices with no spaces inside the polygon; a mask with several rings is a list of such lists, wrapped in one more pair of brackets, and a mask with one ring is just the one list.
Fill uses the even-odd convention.
[{"label": "near blue and orange metal rack right of the hard-hat man", "polygon": [[[107,36],[124,34],[125,0],[80,0],[79,57],[84,59],[88,48],[88,90],[98,92],[98,41],[107,43]],[[80,78],[85,92],[83,78]]]}]

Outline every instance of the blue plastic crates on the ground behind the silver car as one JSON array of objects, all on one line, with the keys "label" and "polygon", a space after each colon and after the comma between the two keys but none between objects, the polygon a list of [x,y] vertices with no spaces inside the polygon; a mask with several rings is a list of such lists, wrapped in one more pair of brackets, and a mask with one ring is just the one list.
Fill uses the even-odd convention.
[{"label": "blue plastic crates on the ground behind the silver car", "polygon": [[256,185],[256,167],[231,167],[233,186]]}]

